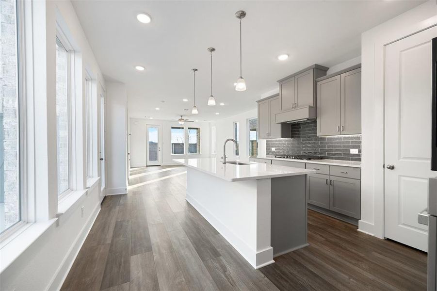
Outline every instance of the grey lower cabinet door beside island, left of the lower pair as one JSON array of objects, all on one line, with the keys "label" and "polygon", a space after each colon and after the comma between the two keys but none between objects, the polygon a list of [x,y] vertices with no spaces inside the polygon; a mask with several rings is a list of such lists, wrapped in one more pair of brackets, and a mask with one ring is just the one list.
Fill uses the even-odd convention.
[{"label": "grey lower cabinet door beside island, left of the lower pair", "polygon": [[329,209],[329,176],[308,175],[308,203]]}]

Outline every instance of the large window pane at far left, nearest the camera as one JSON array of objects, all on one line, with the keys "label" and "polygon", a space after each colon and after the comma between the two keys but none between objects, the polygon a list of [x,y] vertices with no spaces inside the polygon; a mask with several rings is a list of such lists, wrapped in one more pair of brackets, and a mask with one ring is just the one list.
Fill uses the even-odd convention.
[{"label": "large window pane at far left, nearest the camera", "polygon": [[21,220],[16,2],[1,2],[0,232]]}]

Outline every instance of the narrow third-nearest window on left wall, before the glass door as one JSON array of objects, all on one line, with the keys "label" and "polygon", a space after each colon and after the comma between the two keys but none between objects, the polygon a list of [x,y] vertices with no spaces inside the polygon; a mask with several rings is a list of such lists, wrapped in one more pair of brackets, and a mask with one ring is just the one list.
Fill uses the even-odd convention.
[{"label": "narrow third-nearest window on left wall, before the glass door", "polygon": [[87,76],[85,79],[85,108],[86,108],[86,178],[93,177],[93,105],[92,105],[92,81]]}]

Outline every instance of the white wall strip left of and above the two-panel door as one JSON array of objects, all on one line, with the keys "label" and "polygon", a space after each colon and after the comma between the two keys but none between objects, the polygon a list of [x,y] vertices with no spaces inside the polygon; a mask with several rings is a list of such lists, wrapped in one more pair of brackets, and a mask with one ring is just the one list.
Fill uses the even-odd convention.
[{"label": "white wall strip left of and above the two-panel door", "polygon": [[430,0],[361,37],[361,220],[359,230],[384,237],[384,46],[437,24]]}]

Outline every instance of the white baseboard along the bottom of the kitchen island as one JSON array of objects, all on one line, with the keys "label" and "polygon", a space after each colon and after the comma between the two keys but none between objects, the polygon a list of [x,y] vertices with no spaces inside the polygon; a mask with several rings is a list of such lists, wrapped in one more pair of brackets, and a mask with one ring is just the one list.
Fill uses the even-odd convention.
[{"label": "white baseboard along the bottom of the kitchen island", "polygon": [[212,225],[236,250],[246,259],[255,269],[274,263],[273,248],[269,247],[262,251],[255,251],[236,234],[230,231],[220,220],[218,220],[210,211],[206,210],[195,200],[189,193],[185,198],[209,223]]}]

